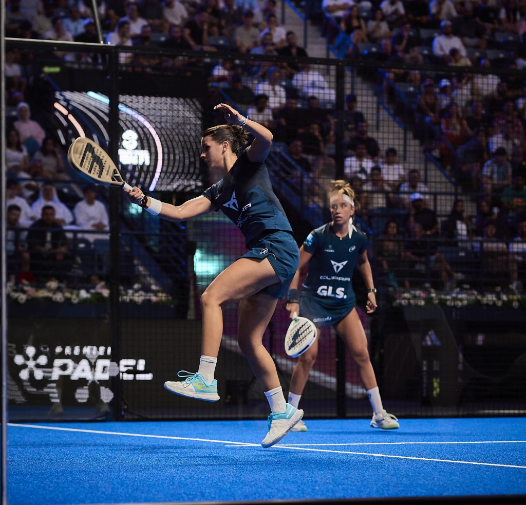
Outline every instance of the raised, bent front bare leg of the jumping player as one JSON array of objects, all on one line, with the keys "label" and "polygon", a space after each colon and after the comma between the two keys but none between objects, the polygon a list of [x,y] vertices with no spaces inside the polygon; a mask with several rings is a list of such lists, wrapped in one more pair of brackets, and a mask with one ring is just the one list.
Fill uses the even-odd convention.
[{"label": "raised, bent front bare leg of the jumping player", "polygon": [[[201,296],[201,307],[203,307],[201,354],[217,358],[223,334],[222,305],[248,298],[276,282],[279,282],[279,277],[267,258],[262,260],[240,258],[225,268]],[[277,300],[274,301],[276,303]],[[268,321],[265,327],[267,324]]]}]

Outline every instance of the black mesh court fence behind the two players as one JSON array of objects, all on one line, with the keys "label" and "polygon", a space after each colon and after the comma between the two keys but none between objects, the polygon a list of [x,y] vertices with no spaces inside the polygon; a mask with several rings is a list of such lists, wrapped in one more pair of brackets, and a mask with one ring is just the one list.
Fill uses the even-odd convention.
[{"label": "black mesh court fence behind the two players", "polygon": [[[386,62],[378,48],[358,59],[296,59],[224,47],[6,43],[30,76],[32,119],[63,154],[76,137],[93,138],[129,184],[156,198],[178,204],[214,182],[198,161],[200,133],[224,122],[213,106],[225,101],[271,128],[267,166],[298,245],[330,220],[330,180],[349,180],[378,288],[375,315],[362,309],[359,274],[353,286],[387,410],[524,415],[526,218],[516,180],[524,117],[507,105],[522,103],[524,74]],[[7,112],[9,130],[17,107]],[[31,140],[26,148],[39,150]],[[84,181],[69,168],[51,178],[41,170],[11,167],[7,176],[23,191],[28,181],[51,185],[74,209]],[[8,230],[9,419],[265,417],[237,346],[236,307],[224,309],[220,401],[163,389],[197,364],[199,297],[244,254],[237,227],[221,213],[159,220],[115,188],[99,187],[97,198],[108,227],[66,222],[60,257],[34,254],[31,223]],[[285,391],[295,365],[283,345],[288,322],[278,304],[264,336]],[[308,417],[370,415],[356,365],[330,327],[301,402]]]}]

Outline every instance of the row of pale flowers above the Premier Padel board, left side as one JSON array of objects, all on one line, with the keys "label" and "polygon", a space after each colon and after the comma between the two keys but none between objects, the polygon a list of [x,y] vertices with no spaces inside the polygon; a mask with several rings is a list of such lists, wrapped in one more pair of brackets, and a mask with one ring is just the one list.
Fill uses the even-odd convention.
[{"label": "row of pale flowers above the Premier Padel board, left side", "polygon": [[[33,300],[53,301],[59,304],[66,301],[72,304],[97,304],[109,300],[109,289],[105,282],[99,282],[92,289],[72,289],[57,280],[49,280],[44,287],[35,287],[23,280],[19,284],[7,282],[6,291],[8,298],[19,304]],[[161,292],[157,286],[152,286],[150,291],[145,291],[140,284],[134,285],[133,289],[125,289],[120,286],[119,299],[122,302],[139,305],[143,303],[174,305],[173,298]]]}]

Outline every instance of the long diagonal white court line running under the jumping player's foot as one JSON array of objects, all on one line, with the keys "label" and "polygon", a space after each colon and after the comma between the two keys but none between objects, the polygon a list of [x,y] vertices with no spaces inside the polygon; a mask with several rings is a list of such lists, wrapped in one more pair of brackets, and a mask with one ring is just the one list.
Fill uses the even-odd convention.
[{"label": "long diagonal white court line running under the jumping player's foot", "polygon": [[[43,430],[74,431],[74,432],[79,432],[79,433],[97,433],[100,435],[122,435],[125,437],[144,437],[144,438],[160,438],[160,439],[168,439],[168,440],[194,440],[198,442],[226,443],[226,444],[229,444],[227,447],[245,447],[245,446],[261,447],[258,443],[234,442],[232,440],[213,440],[213,439],[206,439],[206,438],[170,437],[168,435],[143,435],[141,433],[125,433],[125,432],[120,432],[120,431],[83,430],[80,428],[59,428],[57,426],[21,425],[17,423],[8,423],[7,426],[13,426],[13,427],[19,427],[19,428],[37,428],[37,429],[43,429]],[[333,449],[311,449],[308,447],[298,447],[298,446],[288,446],[288,445],[276,445],[274,447],[276,449],[292,449],[292,450],[297,450],[297,451],[329,452],[333,454],[351,454],[355,456],[375,456],[377,458],[413,459],[413,460],[418,460],[418,461],[437,461],[441,463],[462,463],[462,464],[476,464],[479,466],[488,466],[488,467],[526,469],[526,466],[520,466],[516,464],[480,463],[478,461],[457,461],[457,460],[451,460],[451,459],[417,458],[413,456],[393,456],[389,454],[378,454],[374,452],[352,452],[352,451],[337,451]]]}]

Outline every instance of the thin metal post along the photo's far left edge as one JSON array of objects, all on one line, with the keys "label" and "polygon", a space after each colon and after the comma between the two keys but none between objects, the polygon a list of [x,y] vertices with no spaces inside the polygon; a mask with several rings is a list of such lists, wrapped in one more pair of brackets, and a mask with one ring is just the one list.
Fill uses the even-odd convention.
[{"label": "thin metal post along the photo's far left edge", "polygon": [[2,29],[0,30],[0,96],[2,97],[2,102],[0,104],[0,159],[2,164],[0,168],[0,173],[2,174],[2,180],[0,181],[0,202],[2,202],[2,209],[0,210],[0,215],[2,216],[2,237],[0,238],[0,244],[2,245],[2,428],[1,428],[1,443],[0,443],[0,499],[2,500],[2,505],[7,505],[7,264],[6,264],[6,208],[4,205],[5,202],[5,191],[6,191],[6,165],[3,163],[5,160],[5,0],[0,0],[0,23]]}]

